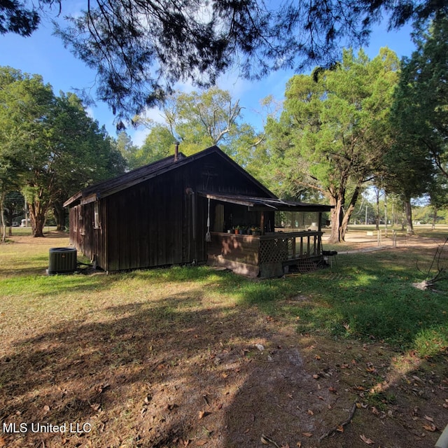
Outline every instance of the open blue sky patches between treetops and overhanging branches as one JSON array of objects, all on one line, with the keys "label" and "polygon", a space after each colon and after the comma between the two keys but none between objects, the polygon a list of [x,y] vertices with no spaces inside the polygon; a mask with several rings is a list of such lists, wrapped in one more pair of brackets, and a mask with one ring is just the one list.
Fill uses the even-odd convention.
[{"label": "open blue sky patches between treetops and overhanging branches", "polygon": [[[381,47],[387,46],[400,58],[410,56],[414,50],[410,31],[411,27],[406,26],[399,31],[388,33],[385,24],[379,25],[372,32],[370,45],[365,51],[372,58],[378,55]],[[12,66],[25,73],[40,74],[45,83],[52,85],[55,94],[59,94],[61,90],[71,92],[76,88],[92,88],[94,94],[94,71],[71,55],[59,38],[52,36],[52,26],[46,22],[43,22],[38,31],[28,38],[14,34],[0,36],[0,66]],[[278,71],[258,82],[253,82],[238,78],[235,70],[222,76],[218,87],[229,90],[235,100],[239,99],[240,106],[244,108],[244,120],[261,130],[263,116],[260,101],[269,94],[281,101],[286,82],[293,74],[293,71]],[[113,114],[106,104],[98,103],[89,111],[100,125],[106,126],[109,134],[116,135]],[[156,121],[161,120],[157,110],[149,111],[148,116]],[[128,129],[128,133],[134,144],[141,145],[148,131],[143,128]]]}]

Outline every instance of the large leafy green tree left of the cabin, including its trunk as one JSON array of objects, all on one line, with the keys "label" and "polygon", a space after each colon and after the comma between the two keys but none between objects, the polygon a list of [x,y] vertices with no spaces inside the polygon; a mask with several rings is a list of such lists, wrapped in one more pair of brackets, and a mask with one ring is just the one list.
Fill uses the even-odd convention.
[{"label": "large leafy green tree left of the cabin, including its trunk", "polygon": [[0,200],[22,190],[34,236],[43,236],[51,206],[62,209],[69,195],[124,167],[75,94],[55,97],[41,76],[0,67]]}]

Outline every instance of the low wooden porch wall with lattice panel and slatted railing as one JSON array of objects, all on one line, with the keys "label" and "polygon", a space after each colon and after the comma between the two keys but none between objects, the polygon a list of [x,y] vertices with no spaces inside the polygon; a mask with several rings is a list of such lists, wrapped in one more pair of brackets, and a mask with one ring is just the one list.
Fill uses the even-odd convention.
[{"label": "low wooden porch wall with lattice panel and slatted railing", "polygon": [[281,276],[288,265],[322,260],[322,233],[274,232],[253,236],[212,232],[208,263],[248,276]]}]

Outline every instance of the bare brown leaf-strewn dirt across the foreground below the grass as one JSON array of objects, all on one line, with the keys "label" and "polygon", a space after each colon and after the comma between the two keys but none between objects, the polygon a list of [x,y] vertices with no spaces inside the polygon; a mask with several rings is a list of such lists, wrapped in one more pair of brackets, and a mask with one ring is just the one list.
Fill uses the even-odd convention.
[{"label": "bare brown leaf-strewn dirt across the foreground below the grass", "polygon": [[256,307],[173,318],[179,300],[3,340],[0,446],[429,448],[448,423],[446,354],[298,335]]}]

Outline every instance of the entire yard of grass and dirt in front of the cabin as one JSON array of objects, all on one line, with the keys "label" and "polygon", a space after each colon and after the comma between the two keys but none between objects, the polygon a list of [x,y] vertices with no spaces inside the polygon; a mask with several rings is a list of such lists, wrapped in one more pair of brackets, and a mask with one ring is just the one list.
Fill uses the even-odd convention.
[{"label": "entire yard of grass and dirt in front of the cabin", "polygon": [[[0,245],[0,407],[8,424],[88,422],[92,432],[0,433],[0,447],[218,446],[221,433],[232,440],[251,432],[254,442],[222,446],[258,446],[263,421],[293,398],[293,412],[274,425],[279,434],[291,431],[290,440],[300,436],[299,406],[323,419],[323,433],[346,419],[356,398],[358,433],[339,435],[342,446],[357,446],[367,430],[379,440],[383,423],[390,437],[403,430],[398,437],[412,446],[423,427],[409,414],[413,432],[403,429],[407,409],[432,418],[446,404],[438,385],[446,386],[447,295],[412,286],[424,277],[416,262],[430,265],[432,248],[337,255],[332,269],[262,281],[204,266],[47,276],[49,249],[68,244],[50,232]],[[294,375],[300,387],[282,386]],[[428,386],[417,391],[422,396],[413,395],[412,375]],[[266,391],[256,395],[264,379]],[[265,393],[276,395],[272,412],[260,407]],[[386,413],[398,412],[393,394],[406,409],[397,421]],[[372,407],[384,420],[372,417]],[[233,421],[251,412],[257,418],[248,426]],[[426,437],[430,446],[436,436]]]}]

